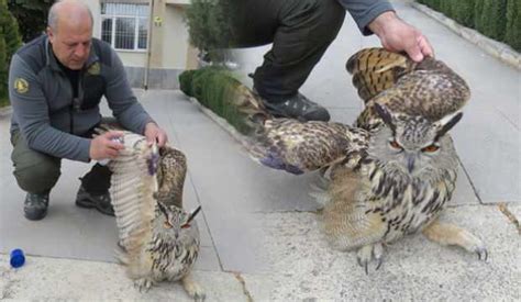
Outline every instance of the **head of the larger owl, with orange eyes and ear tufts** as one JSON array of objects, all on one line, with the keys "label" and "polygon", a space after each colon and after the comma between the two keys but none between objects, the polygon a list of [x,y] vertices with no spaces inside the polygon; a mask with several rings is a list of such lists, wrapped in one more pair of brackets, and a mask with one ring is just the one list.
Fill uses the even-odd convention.
[{"label": "head of the larger owl, with orange eyes and ear tufts", "polygon": [[462,112],[457,112],[433,122],[421,115],[392,113],[381,104],[375,104],[375,111],[387,127],[375,134],[369,154],[411,175],[424,167],[439,165],[446,153],[453,152],[445,134],[463,116]]}]

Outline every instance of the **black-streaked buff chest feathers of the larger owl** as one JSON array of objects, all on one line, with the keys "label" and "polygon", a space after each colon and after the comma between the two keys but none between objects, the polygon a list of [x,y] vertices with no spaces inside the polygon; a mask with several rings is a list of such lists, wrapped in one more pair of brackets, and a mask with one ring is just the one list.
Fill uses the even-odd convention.
[{"label": "black-streaked buff chest feathers of the larger owl", "polygon": [[379,215],[384,238],[392,241],[413,233],[435,219],[455,188],[456,170],[425,170],[411,176],[399,169],[386,170],[377,161],[361,169],[362,183],[357,199],[366,214]]}]

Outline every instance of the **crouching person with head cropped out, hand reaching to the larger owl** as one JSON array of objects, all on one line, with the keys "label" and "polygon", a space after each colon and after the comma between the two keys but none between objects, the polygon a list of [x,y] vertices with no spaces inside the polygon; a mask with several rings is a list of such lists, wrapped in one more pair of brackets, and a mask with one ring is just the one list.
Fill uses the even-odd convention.
[{"label": "crouching person with head cropped out, hand reaching to the larger owl", "polygon": [[329,121],[325,108],[299,93],[339,33],[347,10],[364,35],[376,34],[388,51],[413,60],[432,56],[428,40],[400,20],[387,0],[221,0],[234,5],[235,47],[273,43],[255,70],[254,88],[276,116]]}]

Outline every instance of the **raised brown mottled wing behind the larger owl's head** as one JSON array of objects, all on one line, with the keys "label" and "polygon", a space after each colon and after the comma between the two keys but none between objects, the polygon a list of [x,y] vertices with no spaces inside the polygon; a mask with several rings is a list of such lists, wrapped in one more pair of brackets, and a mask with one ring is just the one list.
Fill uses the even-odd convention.
[{"label": "raised brown mottled wing behind the larger owl's head", "polygon": [[439,121],[461,110],[470,98],[465,80],[432,57],[414,63],[402,54],[367,48],[353,55],[346,68],[366,103],[356,125],[367,130],[380,123],[374,103],[393,113]]}]

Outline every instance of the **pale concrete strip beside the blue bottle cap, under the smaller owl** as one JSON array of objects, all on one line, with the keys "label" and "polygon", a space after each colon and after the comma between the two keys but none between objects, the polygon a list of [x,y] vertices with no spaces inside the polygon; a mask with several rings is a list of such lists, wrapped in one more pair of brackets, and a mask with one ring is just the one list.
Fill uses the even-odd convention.
[{"label": "pale concrete strip beside the blue bottle cap, under the smaller owl", "polygon": [[[0,255],[0,300],[31,301],[193,301],[178,282],[162,282],[141,293],[115,264],[27,257],[20,269]],[[207,301],[248,301],[241,276],[195,271]],[[255,276],[262,280],[263,276]],[[259,281],[264,283],[264,281]]]}]

